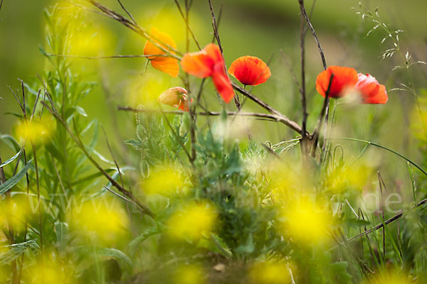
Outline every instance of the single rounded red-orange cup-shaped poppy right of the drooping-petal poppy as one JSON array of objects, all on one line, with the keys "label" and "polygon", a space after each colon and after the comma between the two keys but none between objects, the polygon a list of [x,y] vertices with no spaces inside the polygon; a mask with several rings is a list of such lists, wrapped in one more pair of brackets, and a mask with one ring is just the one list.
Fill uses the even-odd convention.
[{"label": "single rounded red-orange cup-shaped poppy right of the drooping-petal poppy", "polygon": [[231,63],[228,73],[245,85],[263,84],[271,76],[270,68],[255,56],[242,56]]}]

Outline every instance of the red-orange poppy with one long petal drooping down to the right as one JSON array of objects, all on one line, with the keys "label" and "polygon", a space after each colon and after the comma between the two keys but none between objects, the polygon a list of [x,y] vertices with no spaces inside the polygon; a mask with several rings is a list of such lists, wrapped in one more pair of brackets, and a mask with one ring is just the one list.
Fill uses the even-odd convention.
[{"label": "red-orange poppy with one long petal drooping down to the right", "polygon": [[212,77],[216,91],[228,103],[234,97],[230,78],[218,45],[209,43],[203,50],[187,53],[181,60],[182,70],[199,78]]}]

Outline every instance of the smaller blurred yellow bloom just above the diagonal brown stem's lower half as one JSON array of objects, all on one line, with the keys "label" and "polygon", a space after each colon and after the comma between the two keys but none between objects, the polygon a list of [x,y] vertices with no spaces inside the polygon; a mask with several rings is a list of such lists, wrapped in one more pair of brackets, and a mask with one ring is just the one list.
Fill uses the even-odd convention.
[{"label": "smaller blurred yellow bloom just above the diagonal brown stem's lower half", "polygon": [[149,177],[141,182],[141,188],[147,195],[164,195],[169,197],[182,192],[184,176],[172,165],[162,165],[154,168]]}]

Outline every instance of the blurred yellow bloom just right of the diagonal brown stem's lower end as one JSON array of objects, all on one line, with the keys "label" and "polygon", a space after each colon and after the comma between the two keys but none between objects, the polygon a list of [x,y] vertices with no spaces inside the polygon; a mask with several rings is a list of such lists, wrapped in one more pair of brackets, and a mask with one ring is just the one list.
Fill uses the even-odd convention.
[{"label": "blurred yellow bloom just right of the diagonal brown stem's lower end", "polygon": [[214,229],[216,210],[208,202],[191,203],[169,218],[169,235],[177,239],[198,240]]}]

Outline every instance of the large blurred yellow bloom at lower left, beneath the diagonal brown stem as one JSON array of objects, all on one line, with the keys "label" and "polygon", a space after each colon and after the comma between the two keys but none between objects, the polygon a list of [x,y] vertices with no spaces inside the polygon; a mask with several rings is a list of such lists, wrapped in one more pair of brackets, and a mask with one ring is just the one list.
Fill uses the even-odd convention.
[{"label": "large blurred yellow bloom at lower left, beneath the diagonal brown stem", "polygon": [[103,198],[76,204],[68,212],[72,228],[81,236],[111,244],[125,234],[129,218],[117,199]]}]

